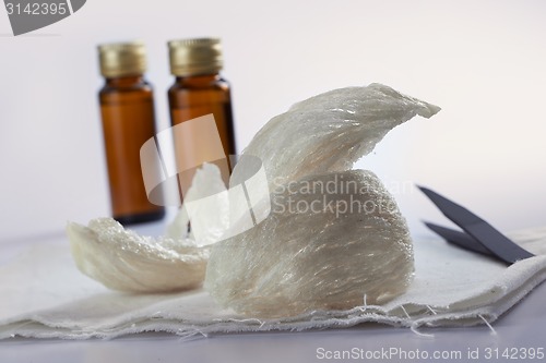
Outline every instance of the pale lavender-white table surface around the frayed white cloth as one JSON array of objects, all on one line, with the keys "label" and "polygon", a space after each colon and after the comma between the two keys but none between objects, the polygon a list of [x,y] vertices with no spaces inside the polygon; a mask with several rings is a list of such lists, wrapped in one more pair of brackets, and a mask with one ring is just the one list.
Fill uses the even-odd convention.
[{"label": "pale lavender-white table surface around the frayed white cloth", "polygon": [[[159,226],[135,228],[141,233],[156,234]],[[36,237],[0,245],[0,264],[13,258],[32,243],[59,240],[62,233]],[[354,328],[304,332],[260,332],[244,335],[213,335],[181,340],[167,334],[141,334],[114,340],[39,340],[13,338],[0,341],[0,362],[323,362],[335,351],[351,351],[348,361],[369,361],[359,354],[382,351],[382,362],[423,361],[415,354],[428,354],[428,361],[467,361],[468,351],[477,353],[477,362],[511,361],[502,356],[505,349],[542,348],[546,350],[546,286],[539,286],[509,313],[498,319],[491,331],[487,326],[472,328],[426,328],[419,336],[406,328],[365,324]],[[363,351],[361,351],[363,350]],[[499,354],[496,359],[496,354]],[[513,351],[510,351],[511,353]],[[521,352],[521,351],[520,351]],[[436,359],[434,354],[451,356]],[[491,359],[488,358],[488,353]],[[399,354],[406,354],[401,359]],[[412,358],[412,354],[414,359]],[[456,359],[461,354],[462,359]],[[366,355],[364,355],[366,358]],[[403,358],[403,355],[402,355]],[[518,361],[525,361],[519,359]],[[546,362],[546,358],[534,359]]]}]

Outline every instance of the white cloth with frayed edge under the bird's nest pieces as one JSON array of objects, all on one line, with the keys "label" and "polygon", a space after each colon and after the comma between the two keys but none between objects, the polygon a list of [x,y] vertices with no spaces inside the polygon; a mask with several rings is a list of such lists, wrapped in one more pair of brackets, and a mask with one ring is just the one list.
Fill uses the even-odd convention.
[{"label": "white cloth with frayed edge under the bird's nest pieces", "polygon": [[127,294],[83,276],[67,245],[35,245],[0,266],[0,339],[114,338],[141,331],[191,337],[212,332],[305,330],[365,322],[418,328],[494,322],[546,279],[546,228],[510,237],[538,256],[507,267],[440,240],[415,242],[410,290],[382,306],[311,312],[261,320],[215,304],[205,291]]}]

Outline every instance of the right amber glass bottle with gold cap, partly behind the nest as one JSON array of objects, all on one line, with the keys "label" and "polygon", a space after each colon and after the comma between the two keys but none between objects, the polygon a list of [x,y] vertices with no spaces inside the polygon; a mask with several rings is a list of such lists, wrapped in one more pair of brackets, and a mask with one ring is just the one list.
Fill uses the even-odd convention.
[{"label": "right amber glass bottle with gold cap, partly behind the nest", "polygon": [[[176,76],[168,90],[170,120],[173,125],[205,116],[214,114],[224,154],[227,161],[215,162],[224,181],[230,173],[229,156],[236,155],[234,121],[229,83],[219,75],[223,55],[219,39],[199,38],[168,43],[170,73]],[[197,145],[195,140],[199,140]],[[182,156],[205,153],[207,140],[203,135],[175,136],[175,153]],[[211,146],[213,148],[213,146]],[[193,172],[179,173],[182,193],[191,183]]]}]

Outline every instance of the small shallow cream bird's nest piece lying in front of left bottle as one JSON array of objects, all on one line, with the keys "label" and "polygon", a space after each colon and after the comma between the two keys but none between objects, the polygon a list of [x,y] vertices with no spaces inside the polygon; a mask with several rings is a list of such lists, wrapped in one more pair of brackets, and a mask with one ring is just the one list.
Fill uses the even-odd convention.
[{"label": "small shallow cream bird's nest piece lying in front of left bottle", "polygon": [[107,288],[168,292],[201,286],[210,249],[189,239],[142,237],[111,218],[67,226],[78,268]]}]

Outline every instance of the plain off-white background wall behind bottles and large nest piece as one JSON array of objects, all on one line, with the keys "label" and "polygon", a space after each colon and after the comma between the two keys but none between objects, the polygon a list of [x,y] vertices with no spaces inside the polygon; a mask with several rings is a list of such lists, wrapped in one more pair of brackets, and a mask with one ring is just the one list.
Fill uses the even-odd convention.
[{"label": "plain off-white background wall behind bottles and large nest piece", "polygon": [[441,220],[417,182],[502,230],[546,225],[546,2],[88,0],[13,37],[0,8],[0,243],[109,214],[96,45],[149,49],[169,126],[166,41],[219,36],[239,150],[273,116],[332,88],[380,82],[442,107],[357,167],[392,189],[415,234]]}]

